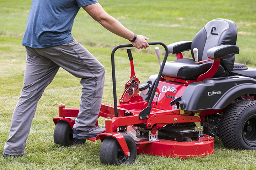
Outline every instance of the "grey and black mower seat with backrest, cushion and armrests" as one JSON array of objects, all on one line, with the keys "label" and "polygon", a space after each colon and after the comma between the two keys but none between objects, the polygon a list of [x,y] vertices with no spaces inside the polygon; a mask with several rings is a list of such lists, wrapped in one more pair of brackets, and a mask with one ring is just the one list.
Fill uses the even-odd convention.
[{"label": "grey and black mower seat with backrest, cushion and armrests", "polygon": [[[193,41],[180,41],[168,45],[169,53],[180,53],[183,51],[191,50],[193,59],[180,58],[175,61],[166,62],[162,75],[180,79],[197,79],[199,75],[206,73],[212,66],[212,61],[196,64],[194,60],[193,49],[198,49],[198,61],[207,60],[213,58],[217,46],[225,46],[225,49],[221,51],[223,55],[227,57],[220,59],[220,66],[218,71],[213,77],[222,77],[229,75],[233,70],[234,55],[231,53],[239,52],[236,44],[237,27],[233,21],[228,19],[213,19],[208,22],[203,29],[201,29]],[[230,51],[230,52],[229,52]],[[238,51],[238,52],[237,52]]]}]

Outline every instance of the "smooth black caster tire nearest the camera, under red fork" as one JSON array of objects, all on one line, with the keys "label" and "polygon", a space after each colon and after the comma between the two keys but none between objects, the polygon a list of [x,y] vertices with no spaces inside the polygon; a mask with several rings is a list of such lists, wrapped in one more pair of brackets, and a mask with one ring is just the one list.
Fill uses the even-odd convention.
[{"label": "smooth black caster tire nearest the camera, under red fork", "polygon": [[127,158],[117,140],[107,136],[100,147],[100,160],[102,164],[120,165],[131,164],[137,155],[137,147],[133,138],[127,134],[122,134],[126,140],[130,156]]}]

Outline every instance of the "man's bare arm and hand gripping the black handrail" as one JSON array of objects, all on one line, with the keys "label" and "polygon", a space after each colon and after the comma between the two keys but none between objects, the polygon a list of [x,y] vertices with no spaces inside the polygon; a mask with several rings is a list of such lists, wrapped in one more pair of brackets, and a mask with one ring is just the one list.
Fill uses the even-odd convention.
[{"label": "man's bare arm and hand gripping the black handrail", "polygon": [[[110,32],[119,35],[127,40],[132,40],[134,38],[134,33],[129,29],[124,27],[120,22],[118,22],[114,17],[107,14],[107,12],[101,7],[99,3],[83,6],[84,10],[98,23],[100,23],[104,28]],[[137,35],[137,39],[132,42],[132,45],[138,49],[149,47],[149,40],[143,35]]]}]

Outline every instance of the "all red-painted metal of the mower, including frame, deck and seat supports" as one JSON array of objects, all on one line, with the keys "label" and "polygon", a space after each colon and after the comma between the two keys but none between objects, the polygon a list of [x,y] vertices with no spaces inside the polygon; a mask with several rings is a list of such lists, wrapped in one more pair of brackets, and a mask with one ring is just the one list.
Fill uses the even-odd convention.
[{"label": "all red-painted metal of the mower, including frame, deck and seat supports", "polygon": [[[176,56],[177,59],[183,58],[182,53],[176,53]],[[148,119],[139,119],[139,113],[148,106],[148,102],[142,101],[142,97],[139,96],[138,90],[133,91],[130,97],[127,95],[127,90],[133,85],[131,80],[135,80],[133,82],[139,83],[139,80],[135,76],[133,61],[130,61],[131,76],[126,82],[126,90],[121,97],[122,100],[119,100],[120,104],[117,107],[118,117],[114,117],[113,105],[102,103],[98,117],[107,118],[105,120],[106,131],[99,134],[96,138],[91,137],[88,138],[88,140],[95,142],[99,139],[103,141],[106,136],[114,137],[118,141],[126,157],[128,157],[129,149],[122,135],[124,132],[117,132],[118,127],[127,126],[127,132],[125,133],[132,136],[134,141],[137,142],[137,153],[177,158],[198,157],[212,154],[214,152],[213,137],[206,134],[204,134],[206,137],[199,138],[198,141],[176,142],[163,139],[159,139],[158,141],[149,141],[145,138],[136,137],[136,129],[135,126],[133,126],[145,123],[148,129],[152,128],[151,133],[154,135],[157,130],[162,128],[164,125],[173,123],[201,122],[204,121],[204,117],[207,114],[223,112],[225,108],[220,110],[198,111],[198,114],[201,117],[197,117],[193,112],[185,112],[185,114],[182,114],[179,109],[175,108],[175,106],[163,107],[170,101],[174,100],[174,98],[181,96],[190,83],[202,81],[206,78],[212,78],[219,68],[220,58],[204,60],[197,62],[196,64],[210,60],[214,60],[212,67],[206,73],[200,75],[197,80],[183,80],[162,76],[156,93],[164,92],[164,96],[160,98],[159,94],[159,96],[156,95],[159,97],[159,100],[158,97],[153,99]],[[165,90],[163,90],[164,87]],[[166,97],[169,99],[167,100]],[[160,104],[160,106],[157,106],[157,103]],[[129,111],[129,115],[125,114],[127,110]],[[58,121],[63,120],[68,122],[70,127],[73,128],[75,118],[78,116],[78,113],[79,109],[65,108],[64,104],[60,104],[59,117],[53,118],[54,124],[56,125]],[[96,122],[95,125],[98,126],[98,122]]]}]

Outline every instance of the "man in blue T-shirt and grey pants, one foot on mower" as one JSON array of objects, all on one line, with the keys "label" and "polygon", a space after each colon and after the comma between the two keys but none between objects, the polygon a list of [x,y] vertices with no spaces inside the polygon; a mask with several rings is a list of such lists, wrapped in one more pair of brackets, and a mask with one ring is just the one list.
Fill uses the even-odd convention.
[{"label": "man in blue T-shirt and grey pants, one foot on mower", "polygon": [[95,137],[105,131],[105,128],[94,126],[100,111],[105,68],[71,36],[80,7],[107,30],[130,40],[138,49],[149,46],[148,38],[125,28],[108,15],[97,0],[32,0],[22,41],[27,52],[23,88],[12,115],[3,157],[25,154],[38,100],[59,67],[81,78],[83,86],[73,137]]}]

